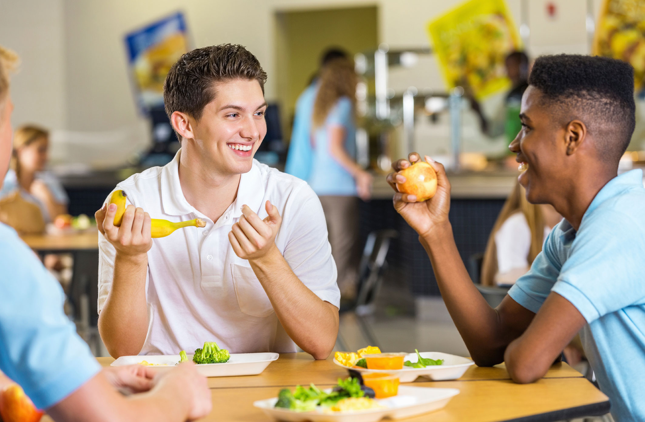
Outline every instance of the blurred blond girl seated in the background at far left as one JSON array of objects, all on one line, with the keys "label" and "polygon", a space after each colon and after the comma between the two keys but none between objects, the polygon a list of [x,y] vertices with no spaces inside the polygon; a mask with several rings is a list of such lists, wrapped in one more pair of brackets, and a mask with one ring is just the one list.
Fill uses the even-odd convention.
[{"label": "blurred blond girl seated in the background at far left", "polygon": [[46,129],[34,125],[17,128],[11,167],[0,190],[0,199],[19,193],[22,199],[38,206],[45,223],[66,214],[68,203],[59,180],[45,171],[48,151],[49,132]]}]

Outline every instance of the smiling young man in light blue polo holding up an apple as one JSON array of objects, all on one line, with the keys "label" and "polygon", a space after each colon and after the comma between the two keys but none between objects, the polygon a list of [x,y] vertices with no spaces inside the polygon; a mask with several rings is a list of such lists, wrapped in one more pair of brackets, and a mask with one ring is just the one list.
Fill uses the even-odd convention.
[{"label": "smiling young man in light blue polo holding up an apple", "polygon": [[[505,361],[513,380],[532,382],[582,330],[617,421],[645,420],[645,189],[640,169],[617,175],[634,114],[629,64],[578,55],[535,61],[522,97],[522,130],[510,149],[529,202],[551,204],[564,220],[496,309],[471,282],[455,246],[443,166],[426,157],[437,170],[432,200],[394,196],[419,233],[475,363]],[[395,170],[409,165],[399,160]],[[393,187],[404,179],[388,176]]]}]

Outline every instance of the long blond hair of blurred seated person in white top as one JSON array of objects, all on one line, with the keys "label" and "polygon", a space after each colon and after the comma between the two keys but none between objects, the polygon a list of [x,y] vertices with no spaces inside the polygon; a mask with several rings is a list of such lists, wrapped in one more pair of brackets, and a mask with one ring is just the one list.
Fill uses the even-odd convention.
[{"label": "long blond hair of blurred seated person in white top", "polygon": [[533,264],[533,260],[537,254],[542,251],[542,242],[544,242],[544,227],[546,222],[542,209],[539,205],[531,204],[526,200],[526,192],[518,182],[515,182],[515,187],[511,194],[506,198],[502,211],[500,211],[493,230],[488,237],[488,244],[486,244],[486,253],[484,253],[484,262],[482,263],[481,271],[481,284],[482,285],[495,285],[495,274],[497,274],[497,246],[495,245],[495,235],[502,227],[502,224],[508,217],[515,213],[522,213],[526,218],[528,227],[531,231],[531,245],[528,250],[529,265]]}]

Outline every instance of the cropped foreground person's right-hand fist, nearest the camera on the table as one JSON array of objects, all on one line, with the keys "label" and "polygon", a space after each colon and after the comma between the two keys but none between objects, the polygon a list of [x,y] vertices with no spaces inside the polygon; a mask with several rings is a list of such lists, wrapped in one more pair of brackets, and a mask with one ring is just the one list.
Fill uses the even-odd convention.
[{"label": "cropped foreground person's right-hand fist, nearest the camera on the table", "polygon": [[159,372],[154,383],[153,392],[168,393],[177,405],[186,406],[190,421],[208,415],[213,408],[208,381],[197,373],[192,362],[184,362],[171,370]]}]

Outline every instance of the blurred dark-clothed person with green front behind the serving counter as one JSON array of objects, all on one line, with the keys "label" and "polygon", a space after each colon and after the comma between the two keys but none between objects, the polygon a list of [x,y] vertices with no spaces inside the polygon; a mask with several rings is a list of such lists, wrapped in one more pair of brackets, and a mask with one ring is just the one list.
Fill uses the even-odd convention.
[{"label": "blurred dark-clothed person with green front behind the serving counter", "polygon": [[510,144],[517,133],[522,129],[519,119],[522,94],[528,87],[528,73],[530,70],[529,57],[524,52],[511,52],[504,62],[506,75],[511,81],[511,90],[506,93],[504,102],[497,109],[495,115],[489,119],[484,115],[479,102],[470,95],[471,108],[479,117],[482,133],[495,138],[504,135],[506,143]]}]

